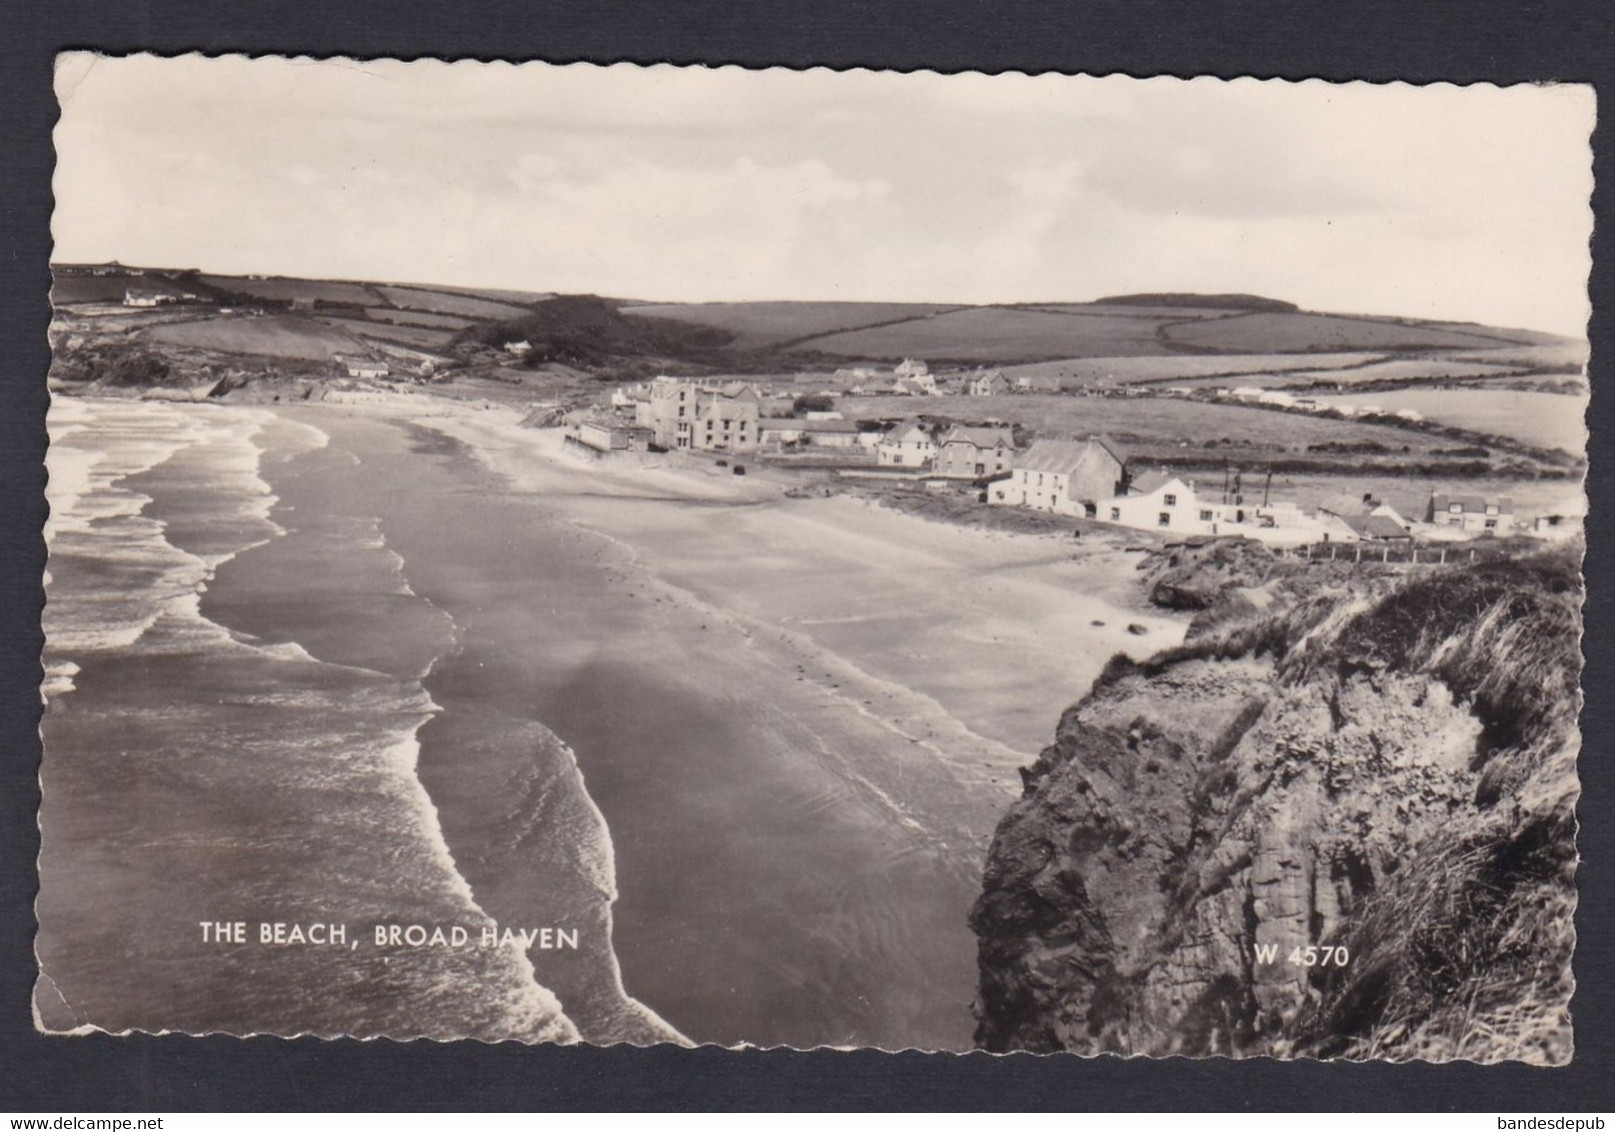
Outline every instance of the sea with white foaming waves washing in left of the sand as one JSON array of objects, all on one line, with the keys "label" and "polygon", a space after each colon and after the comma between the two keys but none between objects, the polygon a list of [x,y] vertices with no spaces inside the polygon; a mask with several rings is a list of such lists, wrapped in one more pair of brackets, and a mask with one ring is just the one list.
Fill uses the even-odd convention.
[{"label": "sea with white foaming waves washing in left of the sand", "polygon": [[497,757],[423,785],[457,627],[318,497],[352,446],[255,407],[58,397],[48,428],[40,1029],[685,1040],[622,990],[554,733],[462,720]]}]

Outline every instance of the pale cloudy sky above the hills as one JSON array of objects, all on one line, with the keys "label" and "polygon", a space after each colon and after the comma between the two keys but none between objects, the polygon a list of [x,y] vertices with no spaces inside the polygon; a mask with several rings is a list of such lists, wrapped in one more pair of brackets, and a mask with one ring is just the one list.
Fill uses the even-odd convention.
[{"label": "pale cloudy sky above the hills", "polygon": [[1252,292],[1581,336],[1588,86],[57,61],[57,262],[669,302]]}]

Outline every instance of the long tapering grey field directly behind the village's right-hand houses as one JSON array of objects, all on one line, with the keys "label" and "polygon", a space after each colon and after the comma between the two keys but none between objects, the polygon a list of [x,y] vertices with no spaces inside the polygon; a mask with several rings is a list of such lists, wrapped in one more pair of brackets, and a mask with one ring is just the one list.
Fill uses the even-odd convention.
[{"label": "long tapering grey field directly behind the village's right-hand houses", "polygon": [[1281,413],[1245,405],[1224,405],[1169,397],[1063,397],[1024,394],[1013,397],[843,397],[837,405],[848,418],[912,417],[927,413],[959,421],[1001,420],[1030,428],[1038,436],[1089,436],[1106,433],[1118,441],[1203,444],[1250,441],[1276,452],[1300,452],[1308,444],[1366,442],[1400,452],[1452,447],[1442,436],[1410,428]]}]

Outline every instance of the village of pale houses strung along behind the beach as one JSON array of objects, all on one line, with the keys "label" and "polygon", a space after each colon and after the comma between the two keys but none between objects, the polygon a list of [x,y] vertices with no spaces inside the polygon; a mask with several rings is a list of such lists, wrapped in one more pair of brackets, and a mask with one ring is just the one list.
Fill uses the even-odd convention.
[{"label": "village of pale houses strung along behind the beach", "polygon": [[[990,507],[1027,509],[1093,523],[1182,536],[1237,536],[1276,549],[1355,547],[1360,557],[1416,552],[1418,544],[1534,535],[1558,538],[1555,515],[1516,517],[1505,496],[1431,491],[1421,514],[1402,514],[1371,491],[1342,491],[1303,509],[1273,491],[1271,472],[1227,468],[1211,478],[1155,467],[1105,434],[1021,442],[1006,423],[859,420],[866,396],[1006,397],[1026,392],[998,370],[938,378],[906,358],[888,373],[841,370],[811,392],[780,392],[766,381],[659,376],[612,391],[609,402],[557,413],[567,442],[594,459],[685,454],[745,475],[748,457],[770,470],[798,470],[843,483],[956,493]],[[1218,391],[1245,399],[1265,391]],[[1289,394],[1286,409],[1302,409]],[[1371,409],[1371,407],[1370,407]],[[992,420],[992,413],[984,417]]]}]

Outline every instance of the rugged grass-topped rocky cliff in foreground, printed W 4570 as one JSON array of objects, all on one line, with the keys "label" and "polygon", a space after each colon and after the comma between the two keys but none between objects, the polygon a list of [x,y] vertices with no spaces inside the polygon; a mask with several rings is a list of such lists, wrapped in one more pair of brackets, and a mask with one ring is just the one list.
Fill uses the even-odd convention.
[{"label": "rugged grass-topped rocky cliff in foreground, printed W 4570", "polygon": [[979,1045],[1568,1059],[1579,602],[1302,568],[1113,662],[993,840]]}]

